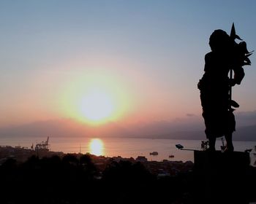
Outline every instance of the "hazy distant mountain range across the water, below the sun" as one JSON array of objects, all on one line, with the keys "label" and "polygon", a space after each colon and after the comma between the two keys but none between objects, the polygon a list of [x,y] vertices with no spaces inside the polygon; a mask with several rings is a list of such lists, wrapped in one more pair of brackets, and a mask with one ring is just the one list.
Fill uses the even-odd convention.
[{"label": "hazy distant mountain range across the water, below the sun", "polygon": [[[256,125],[237,127],[234,141],[256,141]],[[109,123],[102,127],[89,127],[71,119],[33,122],[27,125],[0,128],[1,137],[51,136],[51,137],[130,137],[130,138],[173,138],[205,140],[202,122],[193,124],[176,122],[154,122],[124,127]]]}]

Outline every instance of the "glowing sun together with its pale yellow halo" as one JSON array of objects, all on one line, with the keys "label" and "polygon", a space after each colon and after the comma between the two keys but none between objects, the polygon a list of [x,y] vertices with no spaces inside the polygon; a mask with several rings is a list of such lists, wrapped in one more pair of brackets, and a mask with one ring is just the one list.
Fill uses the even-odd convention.
[{"label": "glowing sun together with its pale yellow halo", "polygon": [[67,82],[60,96],[64,117],[87,125],[116,122],[131,107],[129,89],[109,74],[84,74]]}]

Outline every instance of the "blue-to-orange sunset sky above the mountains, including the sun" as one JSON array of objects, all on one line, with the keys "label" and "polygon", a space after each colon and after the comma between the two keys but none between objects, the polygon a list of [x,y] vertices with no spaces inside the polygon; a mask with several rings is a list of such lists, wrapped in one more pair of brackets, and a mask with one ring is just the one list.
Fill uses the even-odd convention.
[{"label": "blue-to-orange sunset sky above the mountains, including the sun", "polygon": [[[255,50],[255,8],[249,0],[1,0],[0,128],[203,128],[197,82],[208,38],[235,23]],[[256,125],[255,56],[233,88],[238,125]]]}]

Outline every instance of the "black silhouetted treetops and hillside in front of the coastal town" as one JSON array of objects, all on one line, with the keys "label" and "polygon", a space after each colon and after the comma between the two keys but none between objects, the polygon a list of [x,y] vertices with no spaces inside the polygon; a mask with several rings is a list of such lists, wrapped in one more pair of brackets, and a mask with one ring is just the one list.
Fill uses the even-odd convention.
[{"label": "black silhouetted treetops and hillside in front of the coastal town", "polygon": [[[0,166],[1,203],[198,203],[202,188],[194,170],[157,177],[125,160],[101,170],[89,154],[9,159]],[[255,184],[256,169],[247,174]],[[254,192],[249,199],[256,200]]]}]

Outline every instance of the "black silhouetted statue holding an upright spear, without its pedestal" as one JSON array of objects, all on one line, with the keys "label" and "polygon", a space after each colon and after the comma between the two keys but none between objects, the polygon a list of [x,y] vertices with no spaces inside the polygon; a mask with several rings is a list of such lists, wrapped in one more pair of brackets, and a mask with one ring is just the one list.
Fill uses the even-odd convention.
[{"label": "black silhouetted statue holding an upright spear, without its pedestal", "polygon": [[197,84],[210,151],[215,150],[216,138],[222,136],[227,143],[225,151],[234,150],[232,133],[236,130],[236,120],[233,107],[239,105],[231,99],[231,87],[241,84],[244,79],[242,66],[250,65],[248,57],[252,54],[247,51],[245,42],[237,44],[235,39],[240,37],[236,35],[234,25],[230,36],[220,29],[211,34],[211,52],[205,55],[204,74]]}]

